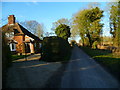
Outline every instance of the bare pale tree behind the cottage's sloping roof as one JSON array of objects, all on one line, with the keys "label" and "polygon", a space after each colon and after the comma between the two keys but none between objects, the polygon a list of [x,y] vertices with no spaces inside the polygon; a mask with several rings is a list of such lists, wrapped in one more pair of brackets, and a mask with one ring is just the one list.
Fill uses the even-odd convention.
[{"label": "bare pale tree behind the cottage's sloping roof", "polygon": [[39,38],[43,36],[43,24],[40,24],[35,20],[20,22],[20,24],[26,27],[33,34],[37,35]]}]

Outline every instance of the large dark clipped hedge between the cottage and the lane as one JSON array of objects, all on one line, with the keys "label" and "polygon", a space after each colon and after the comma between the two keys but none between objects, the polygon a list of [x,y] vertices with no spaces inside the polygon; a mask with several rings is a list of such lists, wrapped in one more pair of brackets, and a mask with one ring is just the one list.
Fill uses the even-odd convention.
[{"label": "large dark clipped hedge between the cottage and the lane", "polygon": [[42,60],[54,62],[54,61],[66,61],[70,57],[70,45],[68,41],[57,37],[45,37],[42,43]]}]

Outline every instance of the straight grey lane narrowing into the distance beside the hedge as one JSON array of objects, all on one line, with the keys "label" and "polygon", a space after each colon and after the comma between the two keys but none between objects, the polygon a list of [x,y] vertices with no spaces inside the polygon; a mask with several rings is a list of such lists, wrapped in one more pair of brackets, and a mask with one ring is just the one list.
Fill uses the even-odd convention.
[{"label": "straight grey lane narrowing into the distance beside the hedge", "polygon": [[118,88],[118,81],[77,46],[73,49],[61,88]]}]

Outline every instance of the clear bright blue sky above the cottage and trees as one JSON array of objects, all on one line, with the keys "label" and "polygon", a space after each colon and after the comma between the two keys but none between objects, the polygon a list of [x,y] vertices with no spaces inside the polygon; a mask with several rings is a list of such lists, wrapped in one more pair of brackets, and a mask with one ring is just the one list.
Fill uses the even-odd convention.
[{"label": "clear bright blue sky above the cottage and trees", "polygon": [[[79,10],[88,7],[90,2],[2,2],[2,25],[7,23],[9,15],[15,15],[16,21],[23,22],[36,20],[43,23],[44,32],[51,32],[52,23],[61,19],[71,19]],[[99,2],[102,10],[106,9],[107,2]],[[104,12],[104,36],[109,36],[109,16]],[[1,26],[0,26],[1,27]]]}]

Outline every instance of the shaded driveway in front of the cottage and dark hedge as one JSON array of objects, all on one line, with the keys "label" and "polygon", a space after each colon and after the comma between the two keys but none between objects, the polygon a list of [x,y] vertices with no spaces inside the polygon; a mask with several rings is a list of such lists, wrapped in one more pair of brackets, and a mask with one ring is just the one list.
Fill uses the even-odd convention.
[{"label": "shaded driveway in front of the cottage and dark hedge", "polygon": [[39,61],[39,54],[13,62],[7,73],[7,88],[42,88],[61,63]]}]

